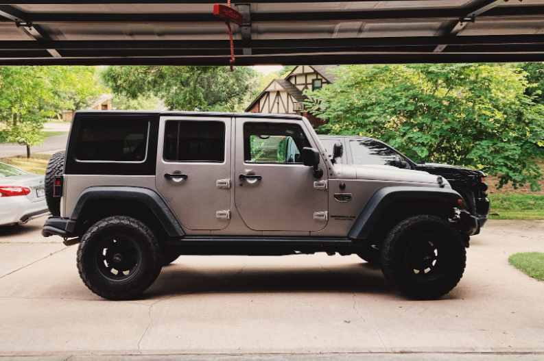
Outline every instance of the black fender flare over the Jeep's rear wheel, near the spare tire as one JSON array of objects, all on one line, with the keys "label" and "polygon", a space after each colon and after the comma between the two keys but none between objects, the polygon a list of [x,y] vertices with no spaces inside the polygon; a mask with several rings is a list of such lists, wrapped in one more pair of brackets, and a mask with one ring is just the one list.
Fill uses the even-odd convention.
[{"label": "black fender flare over the Jeep's rear wheel, near the spare tire", "polygon": [[161,196],[149,188],[128,186],[97,186],[84,189],[73,207],[70,216],[71,229],[66,229],[68,232],[73,232],[78,216],[84,209],[85,204],[94,199],[130,199],[141,201],[150,208],[153,214],[161,222],[168,236],[185,236],[185,232],[183,232],[178,219],[174,216],[174,213],[170,210]]}]

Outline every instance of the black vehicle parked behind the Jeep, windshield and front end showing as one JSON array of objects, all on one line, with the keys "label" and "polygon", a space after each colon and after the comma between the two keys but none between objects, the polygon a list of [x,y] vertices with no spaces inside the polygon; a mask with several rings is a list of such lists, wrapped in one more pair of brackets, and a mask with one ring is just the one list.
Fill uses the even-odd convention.
[{"label": "black vehicle parked behind the Jeep, windshield and front end showing", "polygon": [[[466,201],[469,211],[476,216],[480,227],[487,221],[490,203],[487,198],[486,175],[482,171],[439,163],[416,163],[406,155],[380,140],[358,136],[319,136],[322,145],[333,157],[335,144],[342,146],[335,162],[342,164],[365,164],[395,166],[401,169],[424,171],[441,175]],[[337,151],[338,152],[338,151]]]}]

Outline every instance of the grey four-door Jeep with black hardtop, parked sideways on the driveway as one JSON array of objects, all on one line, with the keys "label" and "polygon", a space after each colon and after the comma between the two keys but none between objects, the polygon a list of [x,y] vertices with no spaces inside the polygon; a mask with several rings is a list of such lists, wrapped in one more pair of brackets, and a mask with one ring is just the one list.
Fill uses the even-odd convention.
[{"label": "grey four-door Jeep with black hardtop, parked sideways on the driveway", "polygon": [[416,298],[460,281],[477,219],[440,176],[333,164],[307,119],[78,112],[46,173],[43,236],[79,242],[86,286],[147,289],[180,255],[357,254]]}]

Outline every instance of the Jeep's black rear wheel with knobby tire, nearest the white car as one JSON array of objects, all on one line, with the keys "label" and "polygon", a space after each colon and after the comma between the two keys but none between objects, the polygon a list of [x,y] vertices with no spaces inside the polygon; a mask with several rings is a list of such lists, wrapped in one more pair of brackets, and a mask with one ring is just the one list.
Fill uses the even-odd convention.
[{"label": "Jeep's black rear wheel with knobby tire, nearest the white car", "polygon": [[84,284],[106,299],[130,299],[153,284],[163,265],[152,230],[137,219],[113,216],[82,237],[78,270]]}]

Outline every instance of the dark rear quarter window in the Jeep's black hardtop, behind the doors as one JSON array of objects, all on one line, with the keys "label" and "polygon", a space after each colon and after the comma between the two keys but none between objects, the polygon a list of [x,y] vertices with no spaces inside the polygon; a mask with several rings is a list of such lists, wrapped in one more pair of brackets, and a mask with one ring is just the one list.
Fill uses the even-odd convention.
[{"label": "dark rear quarter window in the Jeep's black hardtop, behind the doors", "polygon": [[143,162],[149,121],[84,119],[79,127],[75,158],[80,161]]}]

